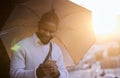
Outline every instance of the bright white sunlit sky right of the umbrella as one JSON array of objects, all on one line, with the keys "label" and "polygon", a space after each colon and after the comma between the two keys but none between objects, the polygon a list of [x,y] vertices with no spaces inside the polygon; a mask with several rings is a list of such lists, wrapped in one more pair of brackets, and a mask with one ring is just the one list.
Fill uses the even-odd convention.
[{"label": "bright white sunlit sky right of the umbrella", "polygon": [[[97,40],[120,39],[120,0],[70,0],[92,11],[92,21]],[[120,19],[120,18],[119,18]]]}]

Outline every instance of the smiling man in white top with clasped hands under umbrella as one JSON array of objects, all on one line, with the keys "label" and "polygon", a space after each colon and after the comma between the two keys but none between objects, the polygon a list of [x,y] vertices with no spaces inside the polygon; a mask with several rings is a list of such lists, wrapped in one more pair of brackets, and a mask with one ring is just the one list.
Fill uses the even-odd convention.
[{"label": "smiling man in white top with clasped hands under umbrella", "polygon": [[[54,10],[43,14],[38,31],[15,45],[18,48],[11,59],[11,78],[68,78],[62,52],[51,41],[57,30],[58,21]],[[50,50],[49,59],[44,61]]]}]

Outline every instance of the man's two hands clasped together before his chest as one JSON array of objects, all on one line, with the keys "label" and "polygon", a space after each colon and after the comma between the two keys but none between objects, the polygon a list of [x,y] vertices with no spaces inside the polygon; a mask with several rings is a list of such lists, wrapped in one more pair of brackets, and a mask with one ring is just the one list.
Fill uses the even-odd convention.
[{"label": "man's two hands clasped together before his chest", "polygon": [[56,61],[53,60],[47,60],[46,63],[40,64],[40,66],[36,70],[36,74],[38,78],[46,76],[52,76],[53,78],[57,78],[60,75],[58,67],[56,65]]}]

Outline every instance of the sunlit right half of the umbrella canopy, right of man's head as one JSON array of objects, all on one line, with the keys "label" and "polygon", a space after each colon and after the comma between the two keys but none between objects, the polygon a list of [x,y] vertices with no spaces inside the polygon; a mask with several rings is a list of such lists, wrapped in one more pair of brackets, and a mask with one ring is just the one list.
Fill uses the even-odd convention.
[{"label": "sunlit right half of the umbrella canopy, right of man's head", "polygon": [[54,6],[61,15],[57,37],[77,64],[95,42],[92,13],[86,8],[65,0],[55,0]]}]

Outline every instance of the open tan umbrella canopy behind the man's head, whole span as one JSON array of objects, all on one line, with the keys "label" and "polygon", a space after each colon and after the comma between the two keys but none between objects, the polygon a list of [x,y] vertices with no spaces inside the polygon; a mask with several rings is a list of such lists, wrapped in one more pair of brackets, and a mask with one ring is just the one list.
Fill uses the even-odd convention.
[{"label": "open tan umbrella canopy behind the man's head, whole span", "polygon": [[95,42],[92,15],[91,11],[68,0],[29,0],[17,5],[1,34],[10,57],[12,44],[34,33],[40,16],[51,6],[60,18],[56,38],[64,45],[73,62],[79,63]]}]

